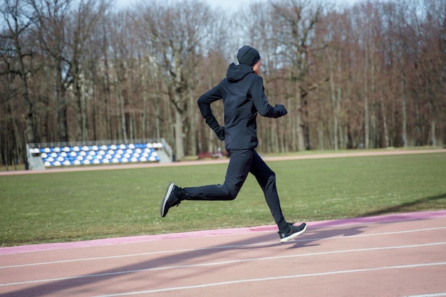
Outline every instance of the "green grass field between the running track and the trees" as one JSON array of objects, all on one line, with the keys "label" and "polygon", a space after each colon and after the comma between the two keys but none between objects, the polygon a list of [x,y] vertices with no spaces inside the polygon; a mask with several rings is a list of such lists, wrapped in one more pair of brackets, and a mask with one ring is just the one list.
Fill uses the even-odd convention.
[{"label": "green grass field between the running track and the trees", "polygon": [[[446,209],[446,155],[268,162],[290,222]],[[227,165],[0,176],[0,244],[274,224],[254,177],[232,202],[182,202],[160,217],[168,182],[219,184]]]}]

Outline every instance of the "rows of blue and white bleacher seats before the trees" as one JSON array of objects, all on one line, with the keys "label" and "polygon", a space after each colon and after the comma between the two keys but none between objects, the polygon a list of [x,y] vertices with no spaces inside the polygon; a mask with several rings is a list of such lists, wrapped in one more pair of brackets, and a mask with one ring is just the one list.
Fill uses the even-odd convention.
[{"label": "rows of blue and white bleacher seats before the trees", "polygon": [[31,155],[40,155],[45,167],[95,165],[128,162],[160,162],[157,150],[161,142],[118,145],[73,145],[30,147]]}]

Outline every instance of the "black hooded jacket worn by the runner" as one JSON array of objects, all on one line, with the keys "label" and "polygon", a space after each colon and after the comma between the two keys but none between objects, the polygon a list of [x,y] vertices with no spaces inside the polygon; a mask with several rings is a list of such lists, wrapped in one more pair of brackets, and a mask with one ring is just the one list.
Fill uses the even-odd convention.
[{"label": "black hooded jacket worn by the runner", "polygon": [[[224,126],[212,114],[211,103],[223,99]],[[251,66],[232,63],[227,78],[198,98],[199,110],[207,125],[219,140],[225,141],[227,150],[254,149],[257,147],[257,113],[268,118],[286,115],[283,105],[269,105],[264,93],[263,78]]]}]

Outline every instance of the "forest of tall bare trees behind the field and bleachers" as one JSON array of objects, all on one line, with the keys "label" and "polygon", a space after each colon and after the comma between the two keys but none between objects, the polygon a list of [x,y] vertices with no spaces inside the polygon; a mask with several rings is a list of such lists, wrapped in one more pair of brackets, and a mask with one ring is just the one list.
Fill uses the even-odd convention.
[{"label": "forest of tall bare trees behind the field and bleachers", "polygon": [[[1,164],[26,143],[163,137],[177,160],[222,147],[197,98],[243,45],[271,105],[260,152],[442,146],[444,0],[0,0]],[[222,125],[221,101],[212,110]]]}]

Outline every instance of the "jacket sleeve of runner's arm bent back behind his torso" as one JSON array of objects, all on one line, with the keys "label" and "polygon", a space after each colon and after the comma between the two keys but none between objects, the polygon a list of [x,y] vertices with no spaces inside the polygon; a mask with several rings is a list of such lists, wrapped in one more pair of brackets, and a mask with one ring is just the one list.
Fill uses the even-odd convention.
[{"label": "jacket sleeve of runner's arm bent back behind his torso", "polygon": [[214,130],[219,140],[224,140],[224,126],[220,126],[212,114],[211,103],[222,99],[222,88],[219,85],[199,96],[197,104],[207,125]]}]

